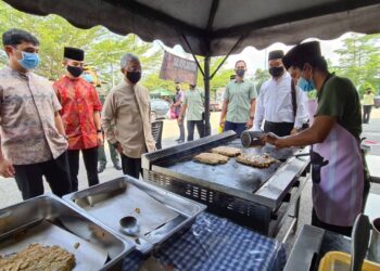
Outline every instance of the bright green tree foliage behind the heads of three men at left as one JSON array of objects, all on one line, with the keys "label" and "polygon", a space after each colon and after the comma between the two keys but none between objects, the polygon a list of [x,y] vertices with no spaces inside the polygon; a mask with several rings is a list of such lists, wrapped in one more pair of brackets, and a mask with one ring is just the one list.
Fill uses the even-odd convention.
[{"label": "bright green tree foliage behind the heads of three men at left", "polygon": [[[119,61],[125,52],[141,56],[143,68],[155,67],[160,54],[152,51],[152,44],[142,42],[136,35],[126,37],[97,26],[79,29],[56,15],[36,16],[20,12],[0,2],[0,30],[22,28],[34,34],[40,41],[41,59],[37,73],[50,79],[58,79],[63,73],[63,48],[77,47],[86,51],[86,62],[96,66],[102,81],[115,82],[122,79]],[[1,64],[7,55],[0,54]],[[117,79],[115,79],[117,78]]]}]

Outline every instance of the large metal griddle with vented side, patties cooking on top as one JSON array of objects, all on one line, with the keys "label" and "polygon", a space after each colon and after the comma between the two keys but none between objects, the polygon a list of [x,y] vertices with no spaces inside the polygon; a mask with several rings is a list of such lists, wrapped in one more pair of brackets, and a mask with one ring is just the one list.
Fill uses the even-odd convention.
[{"label": "large metal griddle with vented side, patties cooking on top", "polygon": [[[216,146],[235,146],[245,153],[267,153],[279,163],[266,169],[242,165],[231,157],[227,164],[205,165],[193,156]],[[271,145],[244,149],[233,131],[210,136],[142,156],[143,179],[207,205],[207,210],[232,219],[267,235],[277,234],[290,206],[299,212],[299,197],[305,185],[309,164],[308,149],[277,150]],[[288,202],[286,205],[284,202]],[[281,212],[281,214],[280,214]],[[271,220],[274,230],[269,231]],[[281,220],[281,221],[280,221]]]}]

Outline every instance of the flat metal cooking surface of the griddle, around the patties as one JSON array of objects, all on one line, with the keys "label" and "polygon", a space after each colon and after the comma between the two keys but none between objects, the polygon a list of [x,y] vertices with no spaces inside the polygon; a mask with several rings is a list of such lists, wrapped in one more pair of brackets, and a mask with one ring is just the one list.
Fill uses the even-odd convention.
[{"label": "flat metal cooking surface of the griddle, around the patties", "polygon": [[[254,146],[244,149],[240,139],[233,140],[227,144],[228,146],[239,147],[243,153],[263,154],[268,153],[273,157],[286,160],[293,154],[293,150],[276,150],[268,146]],[[265,169],[245,166],[236,162],[235,157],[230,157],[227,164],[211,166],[194,162],[194,155],[183,157],[177,160],[170,160],[157,166],[173,170],[177,173],[197,178],[205,182],[214,182],[226,188],[254,193],[262,186],[276,171],[281,167],[282,163],[273,164]]]}]

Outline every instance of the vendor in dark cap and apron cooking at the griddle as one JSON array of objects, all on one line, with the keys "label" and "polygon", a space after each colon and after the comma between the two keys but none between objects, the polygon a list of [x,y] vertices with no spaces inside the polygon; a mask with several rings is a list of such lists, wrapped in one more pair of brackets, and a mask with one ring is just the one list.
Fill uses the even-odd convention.
[{"label": "vendor in dark cap and apron cooking at the griddle", "polygon": [[299,69],[303,90],[317,89],[318,108],[311,128],[284,138],[268,134],[263,140],[277,147],[312,145],[312,224],[350,236],[369,190],[359,145],[358,93],[351,80],[329,73],[319,42],[294,47],[282,62],[287,69]]}]

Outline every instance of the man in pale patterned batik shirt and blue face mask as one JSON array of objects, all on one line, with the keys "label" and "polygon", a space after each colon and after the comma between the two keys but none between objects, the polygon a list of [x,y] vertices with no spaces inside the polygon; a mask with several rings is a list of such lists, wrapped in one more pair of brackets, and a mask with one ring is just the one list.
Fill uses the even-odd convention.
[{"label": "man in pale patterned batik shirt and blue face mask", "polygon": [[11,29],[2,35],[8,66],[0,70],[0,175],[14,177],[23,198],[43,194],[45,176],[52,192],[69,192],[67,141],[51,83],[33,73],[39,41]]}]

